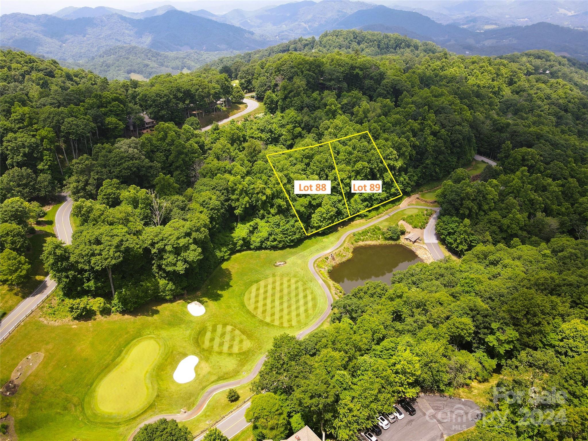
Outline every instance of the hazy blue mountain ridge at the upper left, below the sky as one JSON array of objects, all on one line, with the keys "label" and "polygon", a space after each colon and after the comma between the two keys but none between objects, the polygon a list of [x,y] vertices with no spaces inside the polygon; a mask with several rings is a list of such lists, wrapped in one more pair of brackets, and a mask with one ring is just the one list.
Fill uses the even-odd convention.
[{"label": "hazy blue mountain ridge at the upper left, below the sky", "polygon": [[272,43],[238,26],[176,9],[142,19],[120,14],[75,19],[8,14],[0,16],[0,26],[2,45],[66,61],[86,59],[116,45],[172,52],[248,51]]}]

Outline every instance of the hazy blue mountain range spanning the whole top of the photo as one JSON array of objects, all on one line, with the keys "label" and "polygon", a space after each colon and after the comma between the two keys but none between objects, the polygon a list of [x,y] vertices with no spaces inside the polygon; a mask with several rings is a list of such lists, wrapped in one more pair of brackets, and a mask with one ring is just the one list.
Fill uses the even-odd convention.
[{"label": "hazy blue mountain range spanning the whole top of the photo", "polygon": [[[476,17],[479,18],[484,11],[493,10],[486,5],[489,3],[479,1],[470,5],[462,2],[459,8],[456,5],[447,6],[444,11],[447,14],[470,11],[478,14]],[[577,2],[540,4],[539,12],[533,15],[535,18],[549,20],[553,16],[552,9],[558,6],[557,11],[569,12],[567,16],[575,16],[572,12],[581,11],[577,14],[579,22],[588,22],[585,8]],[[516,16],[533,11],[528,2],[510,2],[509,5],[510,8],[516,5]],[[406,5],[402,8],[409,9]],[[460,14],[457,15],[467,20],[467,16]],[[562,15],[563,12],[557,14]],[[161,72],[193,69],[210,61],[210,56],[193,51],[250,51],[300,36],[318,36],[330,29],[352,28],[398,33],[420,41],[432,41],[457,54],[504,55],[547,49],[559,55],[588,60],[585,44],[588,31],[582,30],[586,26],[562,27],[521,19],[516,26],[497,28],[497,25],[487,25],[481,32],[475,26],[450,19],[439,19],[441,22],[437,22],[435,14],[429,15],[433,19],[417,11],[350,0],[304,0],[255,11],[234,9],[223,15],[204,9],[178,11],[171,5],[144,12],[71,7],[54,15],[2,15],[0,44],[47,58],[78,62],[79,66],[94,69],[108,78],[129,78],[131,73],[138,74],[139,78],[149,78]],[[522,23],[533,24],[520,26]],[[141,63],[133,55],[133,48],[121,47],[125,45],[175,53],[166,56],[149,52],[146,62]],[[116,54],[118,59],[113,59],[112,54]]]}]

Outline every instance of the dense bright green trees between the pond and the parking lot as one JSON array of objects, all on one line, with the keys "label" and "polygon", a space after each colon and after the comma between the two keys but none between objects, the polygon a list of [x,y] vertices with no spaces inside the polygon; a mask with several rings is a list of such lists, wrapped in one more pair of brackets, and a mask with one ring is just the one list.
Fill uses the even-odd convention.
[{"label": "dense bright green trees between the pond and the parking lot", "polygon": [[[502,397],[489,393],[483,420],[460,439],[586,440],[587,264],[583,239],[480,245],[460,262],[396,272],[391,287],[353,289],[333,303],[328,328],[284,334],[269,350],[254,389],[285,416],[273,439],[301,418],[354,440],[402,397],[452,394],[501,371]],[[254,423],[253,435],[273,433]]]}]

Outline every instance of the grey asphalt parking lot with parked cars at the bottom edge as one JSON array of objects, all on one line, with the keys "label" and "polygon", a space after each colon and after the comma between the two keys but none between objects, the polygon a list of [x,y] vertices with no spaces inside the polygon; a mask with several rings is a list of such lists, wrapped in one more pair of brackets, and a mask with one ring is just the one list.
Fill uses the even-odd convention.
[{"label": "grey asphalt parking lot with parked cars at the bottom edge", "polygon": [[[413,403],[416,415],[406,412],[402,420],[376,435],[379,441],[437,441],[475,425],[480,407],[471,400],[439,395],[420,395]],[[375,434],[374,434],[375,435]]]}]

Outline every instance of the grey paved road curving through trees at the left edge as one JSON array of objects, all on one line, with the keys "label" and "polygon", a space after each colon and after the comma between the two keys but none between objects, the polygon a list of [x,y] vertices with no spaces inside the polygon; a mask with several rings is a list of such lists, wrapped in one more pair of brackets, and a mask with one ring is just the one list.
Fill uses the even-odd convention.
[{"label": "grey paved road curving through trees at the left edge", "polygon": [[[69,223],[69,215],[72,211],[73,201],[66,195],[64,204],[59,207],[55,214],[55,234],[58,239],[65,243],[72,243],[72,226]],[[49,294],[55,289],[57,283],[51,280],[49,276],[41,282],[41,285],[32,292],[30,296],[22,300],[15,309],[13,309],[0,322],[0,342],[4,342],[6,338],[16,329],[18,325],[24,320]]]}]

